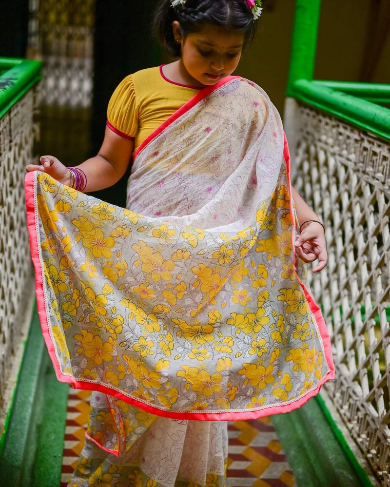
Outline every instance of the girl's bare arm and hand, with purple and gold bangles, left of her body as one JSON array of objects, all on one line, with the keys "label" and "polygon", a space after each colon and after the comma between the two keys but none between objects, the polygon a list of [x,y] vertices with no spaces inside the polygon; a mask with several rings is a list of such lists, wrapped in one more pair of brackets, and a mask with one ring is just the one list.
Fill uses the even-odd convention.
[{"label": "girl's bare arm and hand, with purple and gold bangles, left of her body", "polygon": [[[77,167],[87,177],[84,192],[97,191],[115,184],[125,174],[133,154],[134,139],[117,135],[106,127],[104,140],[97,156],[87,159]],[[41,156],[41,166],[29,164],[26,171],[42,171],[60,183],[71,185],[71,175],[65,165],[54,156]]]}]

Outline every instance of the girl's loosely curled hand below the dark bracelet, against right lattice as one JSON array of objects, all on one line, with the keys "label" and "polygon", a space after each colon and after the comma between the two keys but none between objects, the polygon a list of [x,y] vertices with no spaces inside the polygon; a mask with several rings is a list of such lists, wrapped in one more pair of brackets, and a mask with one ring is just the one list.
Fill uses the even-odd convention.
[{"label": "girl's loosely curled hand below the dark bracelet, against right lattice", "polygon": [[325,233],[322,226],[316,222],[306,225],[295,239],[295,251],[304,262],[313,262],[318,259],[318,264],[313,272],[319,272],[328,264]]}]

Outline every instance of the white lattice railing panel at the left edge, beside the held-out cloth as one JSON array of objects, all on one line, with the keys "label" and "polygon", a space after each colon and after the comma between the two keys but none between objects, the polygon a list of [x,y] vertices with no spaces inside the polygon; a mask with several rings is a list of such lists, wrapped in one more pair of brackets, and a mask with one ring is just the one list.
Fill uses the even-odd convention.
[{"label": "white lattice railing panel at the left edge, beside the held-out cloth", "polygon": [[33,162],[36,98],[37,88],[30,89],[0,118],[0,436],[16,387],[34,295],[24,168]]}]

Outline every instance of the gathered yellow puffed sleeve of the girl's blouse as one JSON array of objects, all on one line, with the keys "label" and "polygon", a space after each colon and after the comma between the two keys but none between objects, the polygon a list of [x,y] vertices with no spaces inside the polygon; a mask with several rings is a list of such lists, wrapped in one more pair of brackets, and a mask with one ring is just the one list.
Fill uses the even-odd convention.
[{"label": "gathered yellow puffed sleeve of the girl's blouse", "polygon": [[107,108],[107,125],[120,136],[137,136],[138,110],[132,75],[124,78],[112,94]]}]

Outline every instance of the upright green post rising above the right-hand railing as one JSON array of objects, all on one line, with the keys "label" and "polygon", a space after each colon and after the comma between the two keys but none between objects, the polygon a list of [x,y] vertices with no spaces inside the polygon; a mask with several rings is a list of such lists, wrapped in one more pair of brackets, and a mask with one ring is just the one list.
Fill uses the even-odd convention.
[{"label": "upright green post rising above the right-hand railing", "polygon": [[314,74],[321,0],[296,0],[287,96],[297,79],[312,79]]}]

